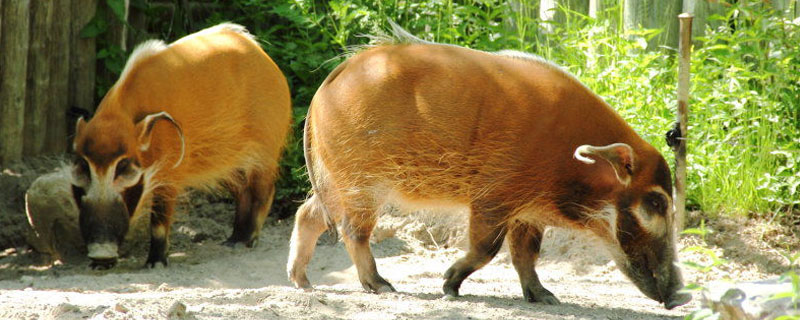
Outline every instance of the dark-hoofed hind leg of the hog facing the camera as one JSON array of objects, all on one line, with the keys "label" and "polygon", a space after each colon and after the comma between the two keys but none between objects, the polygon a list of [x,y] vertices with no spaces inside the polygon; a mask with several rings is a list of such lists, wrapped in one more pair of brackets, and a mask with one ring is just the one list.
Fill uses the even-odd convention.
[{"label": "dark-hoofed hind leg of the hog facing the camera", "polygon": [[225,245],[233,247],[242,243],[248,248],[256,245],[275,197],[273,176],[255,171],[247,177],[244,186],[230,188],[236,198],[236,216],[233,234],[225,241]]}]

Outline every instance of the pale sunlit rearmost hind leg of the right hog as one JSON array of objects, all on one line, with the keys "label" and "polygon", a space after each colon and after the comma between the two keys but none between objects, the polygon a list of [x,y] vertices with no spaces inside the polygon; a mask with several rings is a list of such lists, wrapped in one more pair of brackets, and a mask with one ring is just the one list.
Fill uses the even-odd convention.
[{"label": "pale sunlit rearmost hind leg of the right hog", "polygon": [[317,239],[328,229],[321,205],[317,195],[313,195],[297,209],[295,214],[286,272],[289,274],[289,280],[297,288],[311,288],[311,282],[306,276],[306,266],[314,255]]}]

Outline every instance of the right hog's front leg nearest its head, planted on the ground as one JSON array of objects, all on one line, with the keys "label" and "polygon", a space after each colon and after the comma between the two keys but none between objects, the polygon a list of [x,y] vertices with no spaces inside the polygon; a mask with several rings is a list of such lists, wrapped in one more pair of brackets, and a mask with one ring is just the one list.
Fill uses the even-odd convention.
[{"label": "right hog's front leg nearest its head, planted on the ground", "polygon": [[542,244],[542,230],[538,227],[519,223],[511,228],[508,236],[511,262],[519,274],[522,295],[528,302],[559,304],[558,299],[539,282],[536,274],[536,260]]}]

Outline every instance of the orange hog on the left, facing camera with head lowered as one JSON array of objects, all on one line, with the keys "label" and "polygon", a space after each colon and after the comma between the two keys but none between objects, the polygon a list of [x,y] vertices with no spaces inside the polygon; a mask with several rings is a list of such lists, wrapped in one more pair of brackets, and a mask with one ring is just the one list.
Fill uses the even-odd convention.
[{"label": "orange hog on the left, facing camera with head lowered", "polygon": [[140,44],[75,129],[72,193],[91,266],[113,266],[131,219],[148,214],[146,265],[166,266],[175,201],[189,188],[228,189],[236,214],[226,244],[253,246],[290,117],[286,78],[242,26]]}]

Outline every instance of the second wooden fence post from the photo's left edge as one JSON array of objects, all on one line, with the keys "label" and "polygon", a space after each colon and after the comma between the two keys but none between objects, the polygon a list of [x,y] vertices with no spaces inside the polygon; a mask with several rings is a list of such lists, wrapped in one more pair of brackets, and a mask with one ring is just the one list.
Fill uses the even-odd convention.
[{"label": "second wooden fence post from the photo's left edge", "polygon": [[25,139],[23,155],[41,154],[47,139],[47,111],[52,104],[50,95],[50,48],[55,11],[53,2],[31,2],[31,44],[28,49],[28,98],[25,108]]}]

